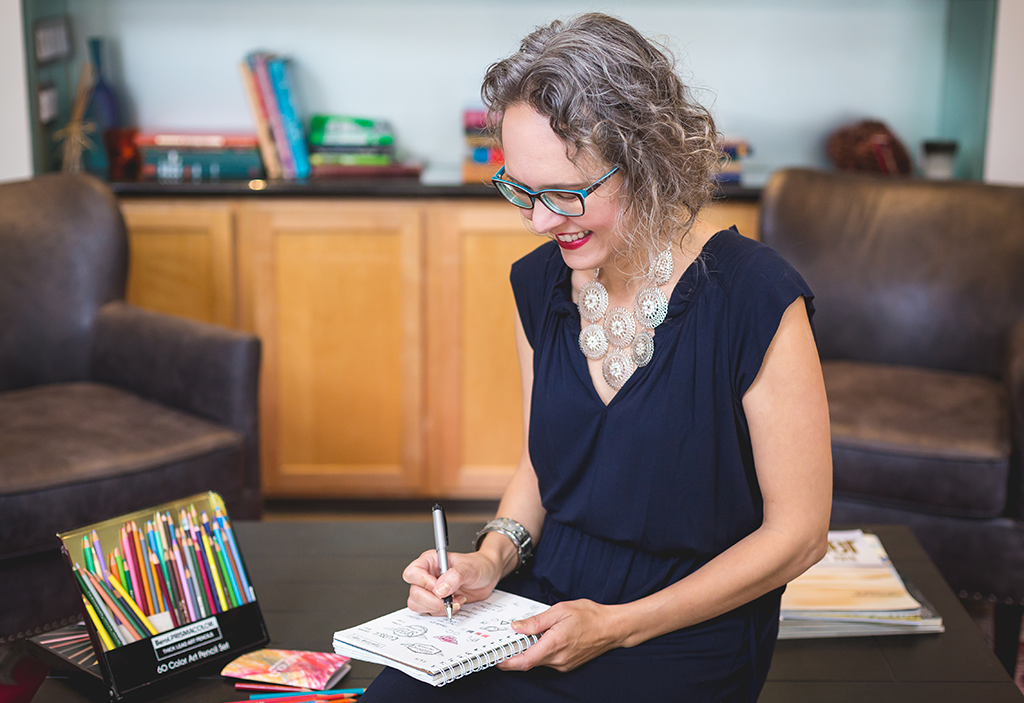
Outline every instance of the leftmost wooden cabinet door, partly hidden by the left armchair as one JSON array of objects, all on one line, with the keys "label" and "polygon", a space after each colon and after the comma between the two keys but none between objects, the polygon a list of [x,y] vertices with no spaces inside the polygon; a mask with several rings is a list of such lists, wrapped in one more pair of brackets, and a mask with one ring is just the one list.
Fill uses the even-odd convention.
[{"label": "leftmost wooden cabinet door, partly hidden by the left armchair", "polygon": [[230,204],[129,200],[121,210],[129,237],[128,302],[234,326]]}]

